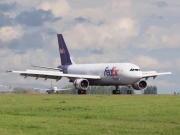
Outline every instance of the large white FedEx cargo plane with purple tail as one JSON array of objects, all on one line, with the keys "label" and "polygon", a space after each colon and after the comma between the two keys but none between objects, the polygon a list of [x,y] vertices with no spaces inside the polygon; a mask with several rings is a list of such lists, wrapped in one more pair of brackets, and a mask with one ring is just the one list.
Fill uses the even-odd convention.
[{"label": "large white FedEx cargo plane with purple tail", "polygon": [[128,86],[135,90],[144,90],[147,87],[148,78],[156,78],[159,75],[172,74],[171,72],[157,73],[156,71],[141,71],[141,69],[132,63],[97,63],[97,64],[75,64],[70,57],[66,43],[62,34],[57,34],[59,43],[59,53],[61,65],[57,68],[32,65],[38,68],[51,69],[53,71],[43,70],[25,70],[25,71],[6,71],[18,73],[21,76],[61,80],[62,77],[69,79],[78,94],[86,94],[86,90],[91,85],[97,86],[115,86],[112,94],[120,94],[119,86]]}]

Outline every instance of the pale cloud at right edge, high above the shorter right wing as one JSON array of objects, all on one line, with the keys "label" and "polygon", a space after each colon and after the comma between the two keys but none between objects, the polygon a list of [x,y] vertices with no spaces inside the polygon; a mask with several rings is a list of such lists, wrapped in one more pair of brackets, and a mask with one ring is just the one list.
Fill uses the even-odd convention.
[{"label": "pale cloud at right edge, high above the shorter right wing", "polygon": [[179,49],[180,48],[180,25],[171,27],[151,26],[143,36],[142,43],[139,48],[145,50],[158,49]]}]

